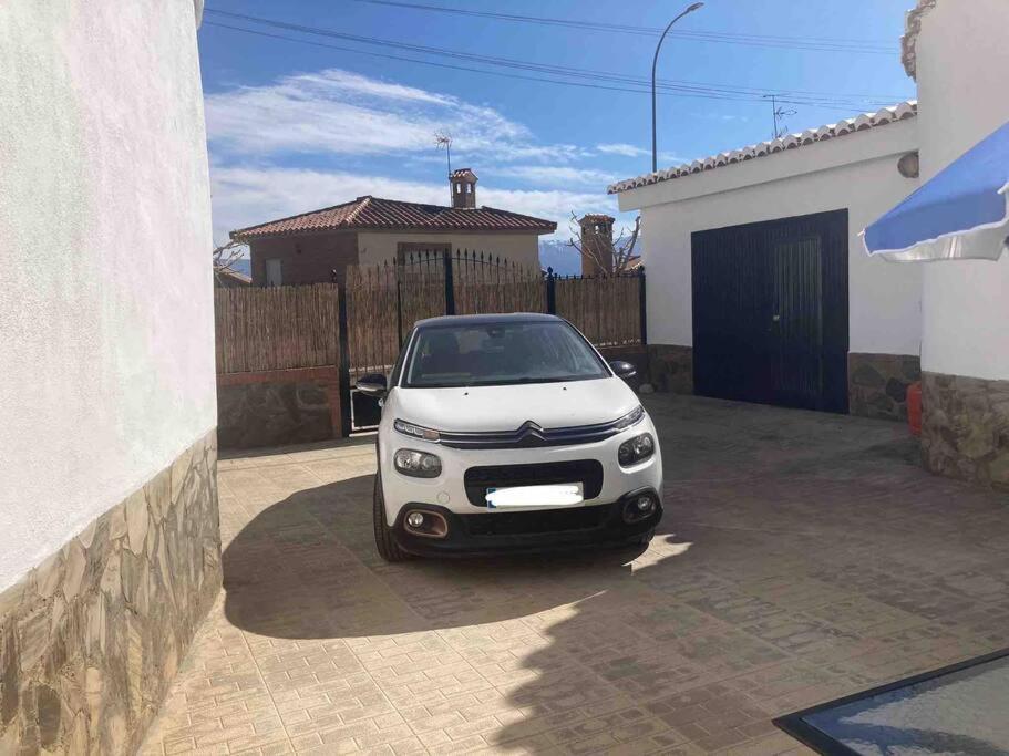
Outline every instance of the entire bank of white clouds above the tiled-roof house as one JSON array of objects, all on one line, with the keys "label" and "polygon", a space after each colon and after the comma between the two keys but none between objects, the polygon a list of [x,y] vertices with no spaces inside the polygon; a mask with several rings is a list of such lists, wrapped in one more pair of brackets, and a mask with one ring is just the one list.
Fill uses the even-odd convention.
[{"label": "entire bank of white clouds above the tiled-roof house", "polygon": [[[617,157],[648,154],[631,145],[543,144],[493,107],[338,69],[209,94],[206,116],[217,241],[236,228],[361,195],[446,205],[435,131],[451,132],[454,167],[485,175],[481,205],[554,220],[556,237],[566,239],[573,211],[617,214],[605,189],[625,177],[578,162],[598,159],[604,147]],[[392,176],[381,175],[387,166]],[[501,188],[495,178],[525,188]]]}]

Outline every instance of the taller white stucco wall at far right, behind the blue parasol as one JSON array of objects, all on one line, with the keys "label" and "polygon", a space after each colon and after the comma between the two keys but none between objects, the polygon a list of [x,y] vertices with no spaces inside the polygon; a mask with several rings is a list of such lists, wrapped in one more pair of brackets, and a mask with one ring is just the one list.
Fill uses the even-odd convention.
[{"label": "taller white stucco wall at far right, behind the blue parasol", "polygon": [[[939,0],[917,40],[922,176],[1009,121],[1009,2]],[[1009,379],[1009,256],[922,266],[922,367]]]}]

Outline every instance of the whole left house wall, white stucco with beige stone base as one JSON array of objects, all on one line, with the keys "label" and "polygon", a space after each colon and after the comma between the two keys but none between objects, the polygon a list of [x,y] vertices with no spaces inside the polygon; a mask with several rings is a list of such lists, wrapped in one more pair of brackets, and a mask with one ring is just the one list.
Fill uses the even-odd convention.
[{"label": "whole left house wall, white stucco with beige stone base", "polygon": [[200,7],[0,2],[3,754],[135,753],[220,588]]}]

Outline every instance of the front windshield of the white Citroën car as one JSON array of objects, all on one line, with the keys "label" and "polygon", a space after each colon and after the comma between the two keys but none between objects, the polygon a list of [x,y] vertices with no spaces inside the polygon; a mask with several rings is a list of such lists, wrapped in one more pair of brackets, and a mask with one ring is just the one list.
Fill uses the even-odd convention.
[{"label": "front windshield of the white Citro\u00ebn car", "polygon": [[421,329],[404,385],[500,386],[608,376],[606,364],[567,323],[500,322]]}]

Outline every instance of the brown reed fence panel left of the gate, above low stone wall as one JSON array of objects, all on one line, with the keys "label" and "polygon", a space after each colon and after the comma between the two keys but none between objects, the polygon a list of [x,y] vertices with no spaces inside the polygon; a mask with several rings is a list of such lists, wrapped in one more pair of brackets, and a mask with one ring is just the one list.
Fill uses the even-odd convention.
[{"label": "brown reed fence panel left of the gate, above low stone wall", "polygon": [[334,283],[214,290],[218,373],[340,364]]}]

